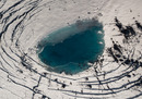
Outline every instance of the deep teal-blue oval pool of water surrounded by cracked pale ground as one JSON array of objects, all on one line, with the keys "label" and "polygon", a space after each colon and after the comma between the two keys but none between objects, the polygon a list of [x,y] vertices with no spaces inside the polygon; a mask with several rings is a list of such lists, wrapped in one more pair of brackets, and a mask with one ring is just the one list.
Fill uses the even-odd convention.
[{"label": "deep teal-blue oval pool of water surrounded by cracked pale ground", "polygon": [[96,20],[76,21],[38,42],[38,58],[48,71],[76,74],[90,67],[104,51],[103,25]]}]

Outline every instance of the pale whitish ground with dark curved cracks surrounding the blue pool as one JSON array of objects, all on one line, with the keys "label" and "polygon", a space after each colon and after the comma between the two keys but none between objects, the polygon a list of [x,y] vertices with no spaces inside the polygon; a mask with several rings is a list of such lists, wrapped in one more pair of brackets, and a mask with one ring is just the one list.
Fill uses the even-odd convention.
[{"label": "pale whitish ground with dark curved cracks surrounding the blue pool", "polygon": [[[142,99],[142,0],[0,0],[0,99]],[[104,25],[105,50],[75,75],[48,72],[36,50],[76,21]]]}]

